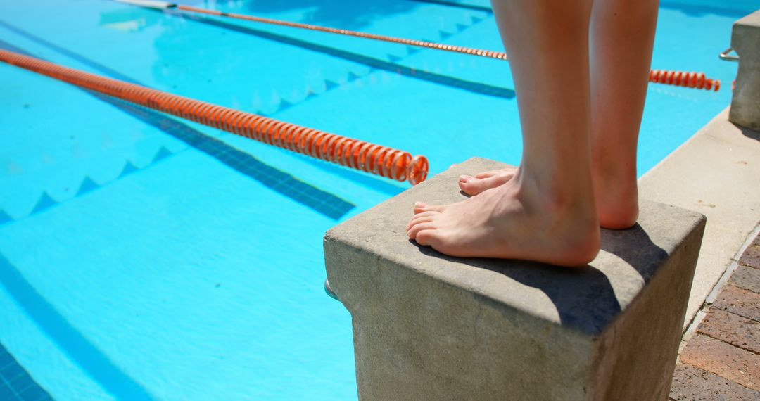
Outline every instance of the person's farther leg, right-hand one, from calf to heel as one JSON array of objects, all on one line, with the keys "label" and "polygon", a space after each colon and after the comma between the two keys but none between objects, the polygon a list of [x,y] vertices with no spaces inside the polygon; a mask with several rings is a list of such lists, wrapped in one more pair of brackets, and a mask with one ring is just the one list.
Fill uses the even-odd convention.
[{"label": "person's farther leg, right-hand one, from calf to heel", "polygon": [[597,0],[591,14],[591,132],[600,224],[636,223],[636,149],[657,0]]}]

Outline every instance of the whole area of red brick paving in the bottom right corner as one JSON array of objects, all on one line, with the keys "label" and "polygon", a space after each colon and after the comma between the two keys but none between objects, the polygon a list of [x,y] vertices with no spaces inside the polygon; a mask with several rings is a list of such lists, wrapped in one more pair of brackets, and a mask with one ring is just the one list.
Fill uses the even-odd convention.
[{"label": "whole area of red brick paving in the bottom right corner", "polygon": [[760,400],[760,235],[679,353],[670,399]]}]

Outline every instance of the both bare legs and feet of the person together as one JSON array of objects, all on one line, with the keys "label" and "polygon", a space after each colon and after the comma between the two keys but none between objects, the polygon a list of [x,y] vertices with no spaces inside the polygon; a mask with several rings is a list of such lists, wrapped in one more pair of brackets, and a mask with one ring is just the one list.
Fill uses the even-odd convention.
[{"label": "both bare legs and feet of the person together", "polygon": [[474,196],[458,204],[418,202],[407,234],[452,256],[586,264],[600,224],[627,228],[638,216],[636,143],[657,1],[492,5],[515,77],[521,164],[461,177]]}]

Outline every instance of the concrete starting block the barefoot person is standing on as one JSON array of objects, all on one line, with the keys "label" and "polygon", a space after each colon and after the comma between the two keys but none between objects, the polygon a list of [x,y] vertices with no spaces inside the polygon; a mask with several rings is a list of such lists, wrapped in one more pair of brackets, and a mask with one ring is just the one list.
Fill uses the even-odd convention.
[{"label": "concrete starting block the barefoot person is standing on", "polygon": [[641,201],[587,267],[445,257],[408,241],[415,200],[461,200],[436,175],[325,235],[350,311],[359,398],[666,399],[705,219]]}]

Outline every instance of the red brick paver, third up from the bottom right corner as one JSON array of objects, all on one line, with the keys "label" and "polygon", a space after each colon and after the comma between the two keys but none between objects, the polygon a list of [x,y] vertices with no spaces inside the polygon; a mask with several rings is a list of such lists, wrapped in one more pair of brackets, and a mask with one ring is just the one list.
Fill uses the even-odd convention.
[{"label": "red brick paver, third up from the bottom right corner", "polygon": [[697,327],[697,333],[760,353],[760,322],[738,314],[713,308]]}]

